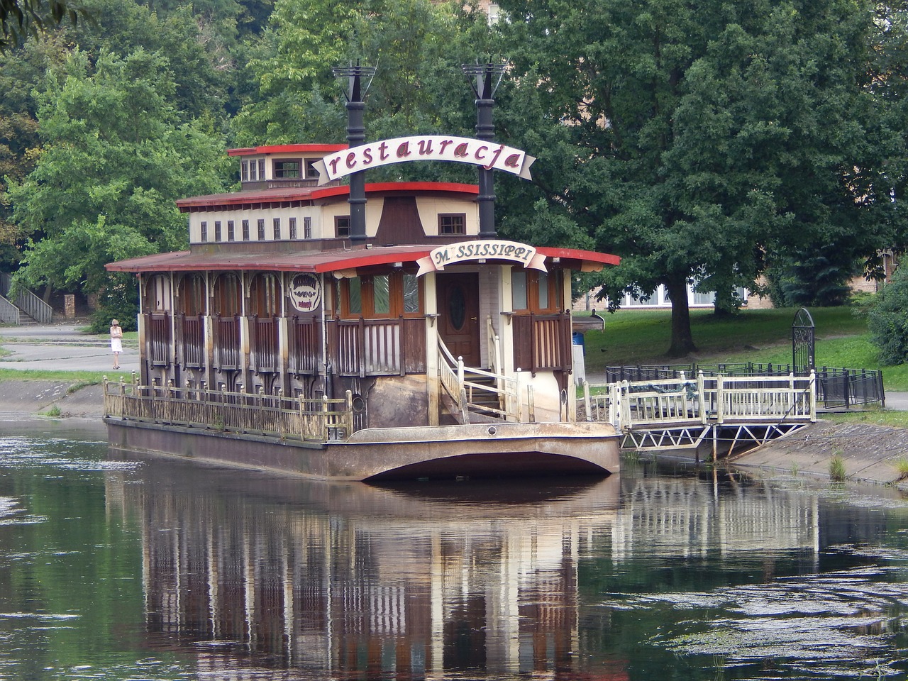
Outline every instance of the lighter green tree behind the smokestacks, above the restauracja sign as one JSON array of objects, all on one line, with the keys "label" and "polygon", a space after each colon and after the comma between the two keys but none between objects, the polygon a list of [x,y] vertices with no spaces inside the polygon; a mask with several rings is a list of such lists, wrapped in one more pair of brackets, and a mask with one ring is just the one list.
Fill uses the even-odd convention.
[{"label": "lighter green tree behind the smokestacks, above the restauracja sign", "polygon": [[[370,138],[473,125],[461,65],[487,54],[489,27],[485,15],[460,3],[281,0],[263,37],[252,60],[260,89],[234,121],[238,143],[343,141],[343,84],[331,70],[357,61],[376,67],[365,112]],[[466,178],[450,165],[410,164],[390,173]]]}]

